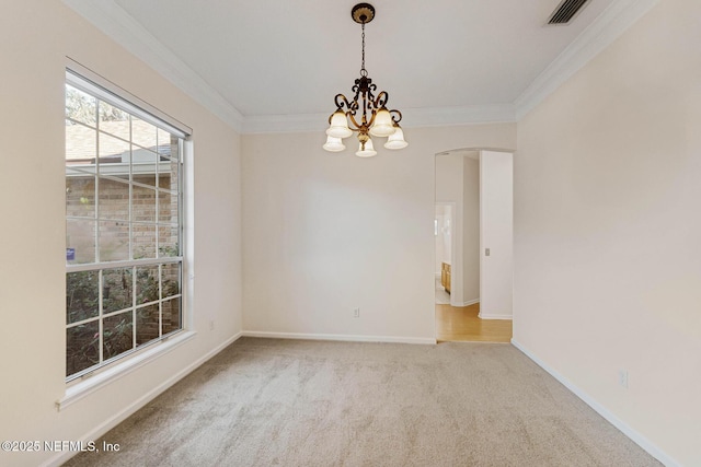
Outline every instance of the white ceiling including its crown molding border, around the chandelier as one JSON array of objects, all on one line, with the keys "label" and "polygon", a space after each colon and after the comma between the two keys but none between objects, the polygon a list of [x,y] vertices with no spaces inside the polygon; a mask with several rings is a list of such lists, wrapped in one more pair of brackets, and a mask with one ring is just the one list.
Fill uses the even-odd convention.
[{"label": "white ceiling including its crown molding border, around the chandelier", "polygon": [[[64,1],[240,130],[323,128],[359,75],[355,0]],[[560,1],[375,0],[366,68],[403,126],[515,120],[650,3]]]}]

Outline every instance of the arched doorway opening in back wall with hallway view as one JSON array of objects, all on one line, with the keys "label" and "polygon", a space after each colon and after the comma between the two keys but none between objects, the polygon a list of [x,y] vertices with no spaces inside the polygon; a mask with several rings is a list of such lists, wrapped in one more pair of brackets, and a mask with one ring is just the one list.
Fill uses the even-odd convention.
[{"label": "arched doorway opening in back wall with hallway view", "polygon": [[512,339],[513,153],[436,154],[436,340]]}]

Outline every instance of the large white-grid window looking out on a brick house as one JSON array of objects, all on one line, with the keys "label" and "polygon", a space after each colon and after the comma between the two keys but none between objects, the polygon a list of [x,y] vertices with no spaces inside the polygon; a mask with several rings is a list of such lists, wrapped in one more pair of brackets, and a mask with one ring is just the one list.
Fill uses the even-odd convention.
[{"label": "large white-grid window looking out on a brick house", "polygon": [[69,381],[183,329],[185,137],[67,72]]}]

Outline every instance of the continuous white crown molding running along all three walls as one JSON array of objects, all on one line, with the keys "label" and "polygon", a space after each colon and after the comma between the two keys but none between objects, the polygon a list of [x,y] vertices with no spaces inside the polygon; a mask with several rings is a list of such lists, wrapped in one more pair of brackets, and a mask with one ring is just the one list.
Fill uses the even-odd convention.
[{"label": "continuous white crown molding running along all three walls", "polygon": [[[112,0],[62,0],[240,133],[320,131],[325,114],[244,117],[205,80]],[[407,108],[405,127],[514,122],[616,40],[659,0],[616,0],[514,101],[464,107]]]}]

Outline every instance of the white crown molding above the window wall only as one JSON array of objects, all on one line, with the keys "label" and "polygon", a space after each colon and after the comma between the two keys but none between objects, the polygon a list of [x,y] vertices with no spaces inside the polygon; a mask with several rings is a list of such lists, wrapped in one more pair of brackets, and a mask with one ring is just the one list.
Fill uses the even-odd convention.
[{"label": "white crown molding above the window wall only", "polygon": [[62,1],[234,130],[241,132],[243,115],[114,1]]}]

